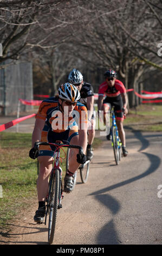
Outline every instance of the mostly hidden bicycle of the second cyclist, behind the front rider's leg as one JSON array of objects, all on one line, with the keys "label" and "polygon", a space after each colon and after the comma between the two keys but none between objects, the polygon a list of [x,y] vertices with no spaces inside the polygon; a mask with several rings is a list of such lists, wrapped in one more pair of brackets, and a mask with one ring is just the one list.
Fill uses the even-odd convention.
[{"label": "mostly hidden bicycle of the second cyclist, behind the front rider's leg", "polygon": [[[70,157],[70,148],[68,148],[68,150],[67,150],[66,170],[68,170],[68,166],[69,166],[69,157]],[[82,183],[86,183],[88,180],[89,163],[90,163],[90,160],[87,160],[85,163],[81,164],[79,167]],[[77,171],[75,172],[75,175],[74,175],[74,186],[76,184],[76,177],[77,177]]]}]

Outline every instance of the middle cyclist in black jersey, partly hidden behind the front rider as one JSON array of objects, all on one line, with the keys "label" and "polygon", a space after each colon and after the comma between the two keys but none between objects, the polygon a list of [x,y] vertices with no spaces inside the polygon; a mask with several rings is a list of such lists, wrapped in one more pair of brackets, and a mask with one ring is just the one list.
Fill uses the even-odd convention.
[{"label": "middle cyclist in black jersey, partly hidden behind the front rider", "polygon": [[90,83],[83,82],[83,76],[77,69],[70,71],[68,81],[80,91],[80,102],[83,103],[88,110],[88,145],[87,160],[93,157],[92,144],[95,137],[95,111],[94,111],[94,92]]}]

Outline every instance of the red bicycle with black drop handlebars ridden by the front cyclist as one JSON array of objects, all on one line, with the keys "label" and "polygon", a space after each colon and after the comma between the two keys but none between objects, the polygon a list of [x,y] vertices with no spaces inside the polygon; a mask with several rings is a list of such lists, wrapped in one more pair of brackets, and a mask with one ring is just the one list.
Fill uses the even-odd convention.
[{"label": "red bicycle with black drop handlebars ridden by the front cyclist", "polygon": [[36,142],[35,148],[38,150],[40,145],[53,145],[56,147],[54,152],[55,161],[53,161],[53,168],[51,170],[50,179],[49,179],[49,189],[48,195],[46,197],[46,215],[45,222],[47,223],[47,216],[49,215],[48,220],[48,243],[53,243],[54,234],[55,234],[55,225],[57,217],[57,209],[62,208],[62,198],[63,198],[63,186],[62,186],[62,168],[60,167],[60,149],[63,147],[79,149],[79,154],[83,154],[83,149],[77,145],[63,144],[60,141],[56,143],[48,142]]}]

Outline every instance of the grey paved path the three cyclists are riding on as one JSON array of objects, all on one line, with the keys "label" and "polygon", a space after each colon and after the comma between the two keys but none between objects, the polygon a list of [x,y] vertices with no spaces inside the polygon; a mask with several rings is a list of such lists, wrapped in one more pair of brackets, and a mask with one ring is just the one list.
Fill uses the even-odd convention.
[{"label": "grey paved path the three cyclists are riding on", "polygon": [[[119,166],[111,143],[101,139],[87,183],[82,184],[78,175],[75,190],[63,198],[54,244],[161,245],[162,133],[126,130],[129,155],[122,157]],[[0,243],[46,245],[48,227],[34,223],[36,208],[35,201]]]}]

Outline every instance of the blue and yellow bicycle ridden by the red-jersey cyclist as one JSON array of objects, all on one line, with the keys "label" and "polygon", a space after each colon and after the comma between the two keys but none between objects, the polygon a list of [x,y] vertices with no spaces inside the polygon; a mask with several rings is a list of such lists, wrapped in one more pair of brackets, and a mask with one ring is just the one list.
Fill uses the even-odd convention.
[{"label": "blue and yellow bicycle ridden by the red-jersey cyclist", "polygon": [[112,147],[114,151],[114,157],[115,157],[115,162],[118,165],[119,161],[121,160],[122,154],[121,154],[121,141],[119,138],[119,133],[118,133],[118,127],[116,125],[116,118],[115,118],[115,112],[114,109],[110,111],[111,118],[112,118],[112,126],[111,126],[111,132],[110,134],[112,135]]}]

